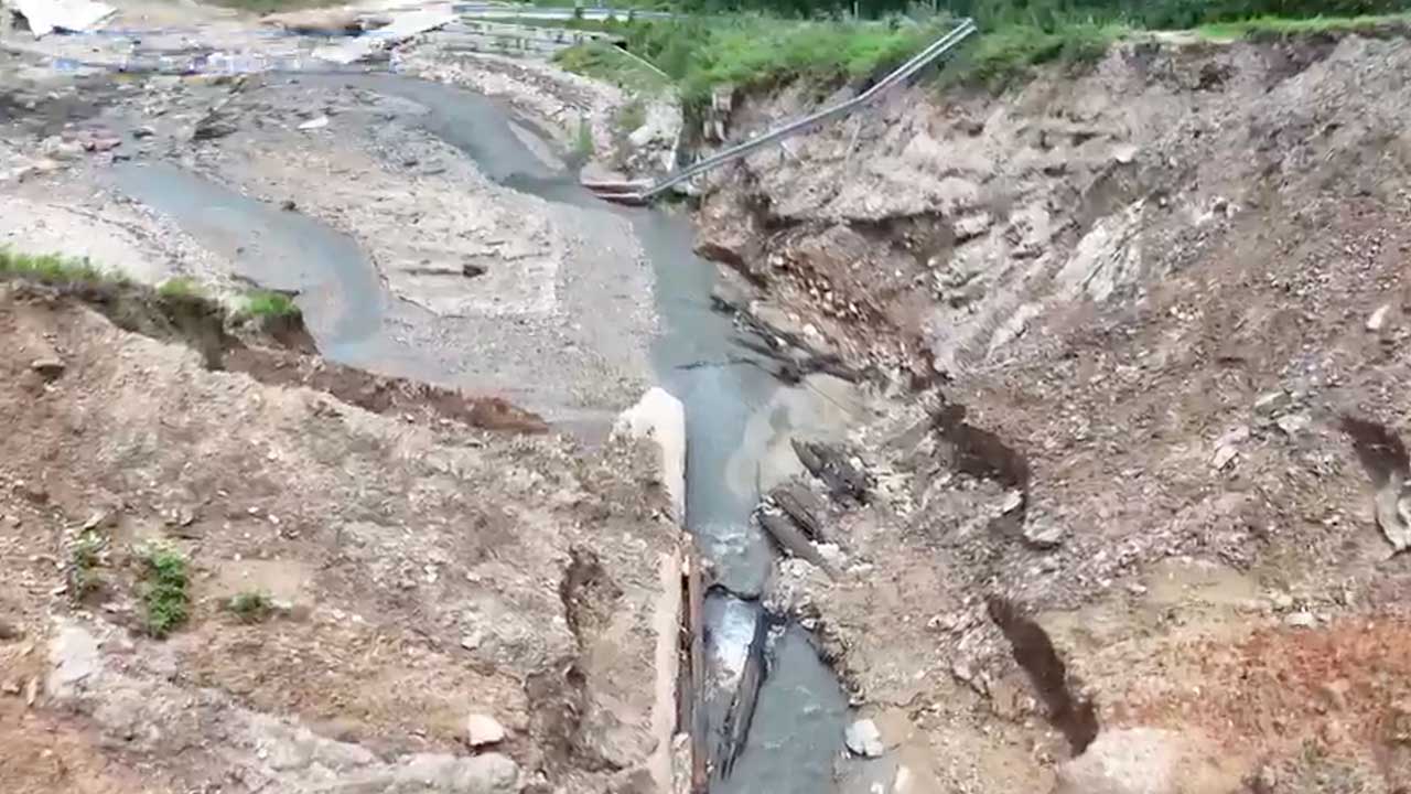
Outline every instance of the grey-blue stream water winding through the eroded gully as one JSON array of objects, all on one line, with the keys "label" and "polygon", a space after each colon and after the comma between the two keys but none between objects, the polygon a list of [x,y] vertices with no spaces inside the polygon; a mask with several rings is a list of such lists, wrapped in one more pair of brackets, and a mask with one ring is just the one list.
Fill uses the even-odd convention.
[{"label": "grey-blue stream water winding through the eroded gully", "polygon": [[[422,129],[456,147],[492,179],[553,205],[625,219],[655,273],[659,316],[652,345],[655,379],[686,405],[687,526],[710,561],[706,600],[707,691],[704,745],[728,747],[727,711],[753,641],[765,674],[744,747],[729,763],[717,757],[711,791],[816,794],[834,788],[847,699],[801,627],[765,613],[759,593],[773,550],[751,524],[761,492],[800,469],[789,439],[835,437],[848,420],[848,394],[837,383],[786,386],[748,360],[732,318],[711,311],[715,266],[694,256],[686,219],[650,209],[611,206],[573,174],[545,164],[494,102],[452,86],[398,76],[330,76],[329,86],[396,96],[425,107]],[[315,78],[305,76],[305,86]],[[325,356],[340,363],[444,384],[464,384],[464,367],[422,355],[392,332],[415,322],[391,295],[370,259],[347,236],[306,216],[281,212],[171,165],[116,171],[120,189],[171,218],[203,246],[229,256],[241,275],[265,287],[301,291],[310,329]],[[296,264],[291,264],[296,263]],[[573,268],[579,263],[569,261]],[[643,297],[636,297],[642,300]],[[602,307],[601,311],[611,311]],[[466,345],[464,356],[484,355]],[[825,377],[825,376],[823,376]],[[756,640],[756,630],[762,632]],[[758,661],[758,660],[756,660]],[[721,774],[729,767],[729,774]]]}]

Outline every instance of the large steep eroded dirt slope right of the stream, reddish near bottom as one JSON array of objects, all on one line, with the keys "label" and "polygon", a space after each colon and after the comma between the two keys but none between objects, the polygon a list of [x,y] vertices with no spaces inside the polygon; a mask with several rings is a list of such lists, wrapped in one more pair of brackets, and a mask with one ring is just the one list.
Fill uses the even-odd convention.
[{"label": "large steep eroded dirt slope right of the stream, reddish near bottom", "polygon": [[1408,510],[1364,465],[1411,415],[1408,78],[1395,37],[1126,42],[715,177],[703,249],[920,389],[856,428],[878,486],[828,519],[840,578],[790,564],[776,593],[899,781],[1411,781]]}]

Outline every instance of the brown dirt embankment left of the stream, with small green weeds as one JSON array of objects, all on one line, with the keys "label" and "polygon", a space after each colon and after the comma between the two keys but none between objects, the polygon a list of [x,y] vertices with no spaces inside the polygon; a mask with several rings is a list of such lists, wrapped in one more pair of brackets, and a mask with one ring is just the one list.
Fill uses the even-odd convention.
[{"label": "brown dirt embankment left of the stream, with small green weeds", "polygon": [[[652,454],[474,429],[198,308],[0,284],[0,788],[648,776],[677,544]],[[169,632],[154,548],[185,559]]]}]

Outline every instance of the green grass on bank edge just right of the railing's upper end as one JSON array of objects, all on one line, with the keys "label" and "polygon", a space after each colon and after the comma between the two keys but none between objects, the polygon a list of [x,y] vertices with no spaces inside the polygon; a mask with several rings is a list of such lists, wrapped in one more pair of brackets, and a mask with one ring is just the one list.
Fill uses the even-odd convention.
[{"label": "green grass on bank edge just right of the railing's upper end", "polygon": [[1085,66],[1098,62],[1127,32],[1122,25],[1078,23],[1044,31],[1009,25],[976,35],[943,71],[943,85],[978,85],[992,92],[1024,82],[1044,64]]}]

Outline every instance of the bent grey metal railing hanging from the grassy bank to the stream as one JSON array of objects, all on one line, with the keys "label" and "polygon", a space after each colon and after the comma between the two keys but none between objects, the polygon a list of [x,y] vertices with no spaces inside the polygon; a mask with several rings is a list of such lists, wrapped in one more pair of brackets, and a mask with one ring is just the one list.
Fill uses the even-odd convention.
[{"label": "bent grey metal railing hanging from the grassy bank to the stream", "polygon": [[959,24],[951,28],[950,32],[933,41],[930,45],[926,47],[926,49],[921,49],[920,52],[913,55],[906,64],[902,64],[900,66],[889,72],[885,78],[878,81],[872,88],[866,89],[858,96],[854,96],[852,99],[840,102],[831,107],[824,107],[823,110],[817,110],[801,119],[796,119],[793,122],[775,127],[773,130],[769,130],[768,133],[749,138],[745,143],[735,144],[729,148],[724,148],[707,157],[706,160],[693,162],[691,165],[687,165],[684,168],[679,168],[667,174],[666,177],[662,177],[656,182],[649,182],[649,184],[584,182],[584,186],[608,201],[617,201],[622,203],[646,203],[653,198],[656,198],[658,195],[663,194],[665,191],[669,191],[672,186],[684,182],[686,179],[690,179],[697,174],[703,174],[718,165],[724,165],[734,160],[739,160],[741,157],[745,157],[746,154],[758,148],[766,147],[772,143],[799,134],[816,124],[821,124],[824,122],[831,122],[834,119],[847,116],[852,110],[880,96],[882,92],[885,92],[886,89],[912,78],[912,75],[931,65],[933,61],[935,61],[945,52],[951,51],[961,41],[965,41],[965,38],[968,38],[972,32],[975,32],[975,30],[976,30],[975,20],[971,18],[961,20]]}]

